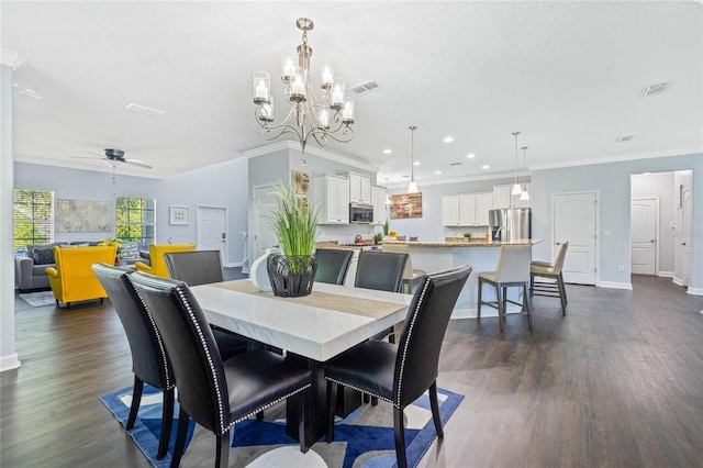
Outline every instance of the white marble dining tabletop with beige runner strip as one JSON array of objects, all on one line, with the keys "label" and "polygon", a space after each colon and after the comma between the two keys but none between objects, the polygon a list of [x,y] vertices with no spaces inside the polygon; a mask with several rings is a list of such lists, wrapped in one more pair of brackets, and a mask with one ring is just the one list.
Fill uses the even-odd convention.
[{"label": "white marble dining tabletop with beige runner strip", "polygon": [[[277,298],[271,292],[236,290],[253,289],[248,279],[191,289],[213,325],[317,361],[325,361],[403,321],[412,300],[411,294],[322,282],[314,283],[313,296],[305,300],[315,302],[314,294],[319,292],[324,296],[321,304],[330,304],[334,294],[338,298],[336,302],[349,304],[349,310],[383,310],[355,313],[342,312],[341,307],[315,307],[292,298]],[[378,301],[378,308],[369,301]]]}]

